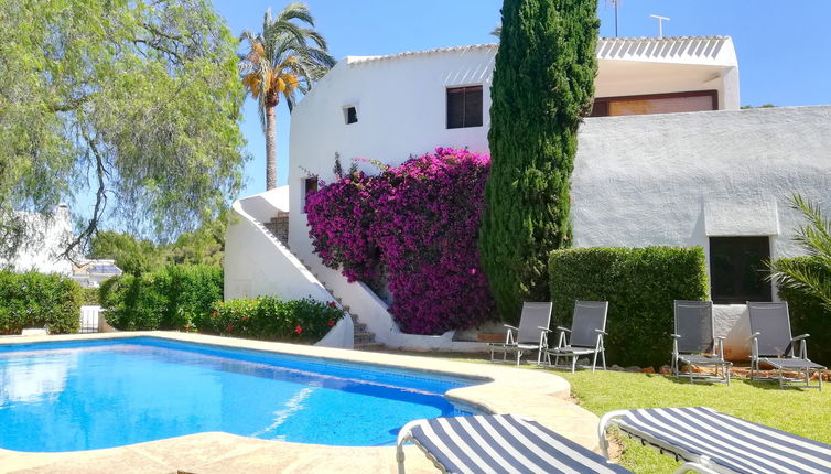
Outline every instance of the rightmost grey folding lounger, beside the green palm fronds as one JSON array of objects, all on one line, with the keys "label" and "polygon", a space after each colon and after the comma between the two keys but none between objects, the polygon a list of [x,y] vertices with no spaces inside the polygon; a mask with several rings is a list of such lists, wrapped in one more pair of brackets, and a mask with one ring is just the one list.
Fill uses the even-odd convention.
[{"label": "rightmost grey folding lounger, beside the green palm fronds", "polygon": [[[818,388],[822,390],[822,373],[828,368],[808,359],[808,334],[792,337],[788,303],[748,302],[751,314],[751,378],[778,380],[779,387]],[[799,344],[799,352],[795,345]],[[759,365],[767,364],[778,370],[778,377],[759,376]],[[785,370],[803,373],[805,380],[785,377]],[[811,385],[810,373],[818,374],[817,385]]]}]

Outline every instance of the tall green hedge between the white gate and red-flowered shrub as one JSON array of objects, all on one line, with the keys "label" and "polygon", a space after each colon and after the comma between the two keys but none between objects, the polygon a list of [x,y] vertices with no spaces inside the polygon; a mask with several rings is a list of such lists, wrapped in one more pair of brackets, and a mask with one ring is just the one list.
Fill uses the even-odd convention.
[{"label": "tall green hedge between the white gate and red-flowered shrub", "polygon": [[123,274],[101,284],[107,322],[122,331],[193,330],[223,299],[223,270],[168,266],[140,277]]}]

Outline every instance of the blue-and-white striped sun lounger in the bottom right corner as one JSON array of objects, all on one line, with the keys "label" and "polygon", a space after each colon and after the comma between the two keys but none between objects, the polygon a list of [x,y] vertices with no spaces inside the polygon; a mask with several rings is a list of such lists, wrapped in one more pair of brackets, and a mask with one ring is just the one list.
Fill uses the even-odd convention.
[{"label": "blue-and-white striped sun lounger in the bottom right corner", "polygon": [[616,424],[632,438],[687,463],[677,473],[831,473],[831,445],[712,408],[619,410],[601,419],[606,453],[606,428]]}]

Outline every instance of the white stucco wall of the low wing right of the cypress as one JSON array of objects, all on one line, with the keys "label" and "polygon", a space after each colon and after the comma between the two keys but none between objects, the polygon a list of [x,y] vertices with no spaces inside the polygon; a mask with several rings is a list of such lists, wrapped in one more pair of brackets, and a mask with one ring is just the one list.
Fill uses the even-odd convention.
[{"label": "white stucco wall of the low wing right of the cypress", "polygon": [[801,255],[792,193],[831,206],[831,107],[586,119],[572,175],[578,247],[770,236]]}]

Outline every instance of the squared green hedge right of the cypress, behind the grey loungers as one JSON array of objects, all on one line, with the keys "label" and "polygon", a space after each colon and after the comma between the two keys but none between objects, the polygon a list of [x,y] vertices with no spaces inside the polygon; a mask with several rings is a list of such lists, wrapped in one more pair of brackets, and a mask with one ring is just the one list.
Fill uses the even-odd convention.
[{"label": "squared green hedge right of the cypress, behind the grey loungers", "polygon": [[622,366],[669,364],[672,301],[708,299],[700,247],[554,250],[549,270],[557,324],[571,324],[574,300],[608,301],[606,358]]}]

